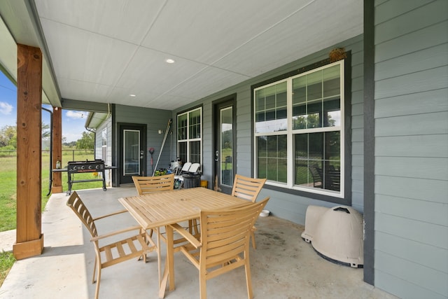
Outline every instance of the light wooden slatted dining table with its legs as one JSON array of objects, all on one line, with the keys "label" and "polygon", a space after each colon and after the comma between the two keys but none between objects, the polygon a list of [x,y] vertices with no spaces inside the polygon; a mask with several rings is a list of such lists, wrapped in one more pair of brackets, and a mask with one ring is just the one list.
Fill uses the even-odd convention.
[{"label": "light wooden slatted dining table with its legs", "polygon": [[[216,192],[207,188],[188,188],[147,195],[122,197],[121,204],[137,220],[141,228],[158,232],[159,297],[165,297],[165,289],[174,291],[174,232],[169,226],[174,223],[200,218],[201,210],[242,207],[251,204],[248,200]],[[161,274],[160,228],[165,226],[167,258]]]}]

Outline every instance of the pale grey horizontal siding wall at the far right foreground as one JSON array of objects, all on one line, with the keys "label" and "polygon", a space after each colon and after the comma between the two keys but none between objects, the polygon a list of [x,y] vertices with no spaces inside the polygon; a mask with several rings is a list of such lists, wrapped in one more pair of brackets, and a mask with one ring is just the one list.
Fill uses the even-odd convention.
[{"label": "pale grey horizontal siding wall at the far right foreground", "polygon": [[376,1],[374,284],[448,298],[448,1]]}]

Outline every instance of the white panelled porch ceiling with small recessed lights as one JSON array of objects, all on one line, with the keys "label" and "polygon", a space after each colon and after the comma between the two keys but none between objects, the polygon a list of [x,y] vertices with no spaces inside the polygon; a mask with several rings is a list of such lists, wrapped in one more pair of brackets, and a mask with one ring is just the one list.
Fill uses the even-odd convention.
[{"label": "white panelled porch ceiling with small recessed lights", "polygon": [[[157,109],[179,108],[363,32],[361,0],[28,4],[43,29],[59,97]],[[17,32],[15,40],[26,43]]]}]

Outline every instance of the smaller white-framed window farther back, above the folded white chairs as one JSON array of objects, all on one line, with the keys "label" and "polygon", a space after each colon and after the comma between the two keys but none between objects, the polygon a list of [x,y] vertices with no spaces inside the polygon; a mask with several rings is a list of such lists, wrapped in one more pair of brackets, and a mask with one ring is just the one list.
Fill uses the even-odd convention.
[{"label": "smaller white-framed window farther back, above the folded white chairs", "polygon": [[183,162],[202,164],[202,108],[178,114],[177,153]]}]

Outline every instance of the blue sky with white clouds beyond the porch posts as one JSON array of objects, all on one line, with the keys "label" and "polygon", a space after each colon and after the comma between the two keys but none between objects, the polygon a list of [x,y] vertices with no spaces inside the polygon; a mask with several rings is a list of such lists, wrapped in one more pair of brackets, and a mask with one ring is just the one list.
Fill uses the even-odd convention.
[{"label": "blue sky with white clouds beyond the porch posts", "polygon": [[[46,109],[52,111],[50,105],[43,105]],[[62,110],[62,137],[65,142],[76,141],[80,139],[85,130],[85,120],[88,112]],[[17,122],[17,88],[0,71],[0,129],[6,125],[16,125]],[[50,125],[50,113],[42,111],[42,122]]]}]

